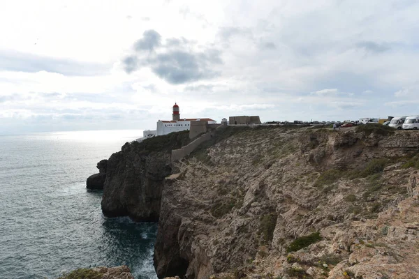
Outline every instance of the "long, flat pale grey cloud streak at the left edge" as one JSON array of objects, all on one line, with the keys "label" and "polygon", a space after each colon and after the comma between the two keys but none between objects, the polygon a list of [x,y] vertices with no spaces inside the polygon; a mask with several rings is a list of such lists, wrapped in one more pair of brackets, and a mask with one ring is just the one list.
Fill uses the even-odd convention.
[{"label": "long, flat pale grey cloud streak at the left edge", "polygon": [[108,73],[111,66],[79,62],[70,59],[54,59],[22,52],[0,51],[0,70],[36,73],[46,71],[68,76],[92,76]]}]

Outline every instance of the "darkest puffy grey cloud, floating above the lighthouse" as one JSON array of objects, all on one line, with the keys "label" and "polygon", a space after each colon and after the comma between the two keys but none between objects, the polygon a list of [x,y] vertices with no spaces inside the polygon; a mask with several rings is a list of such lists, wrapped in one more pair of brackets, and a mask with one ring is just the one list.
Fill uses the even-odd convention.
[{"label": "darkest puffy grey cloud, floating above the lighthouse", "polygon": [[219,75],[219,71],[213,70],[212,66],[223,63],[221,52],[214,48],[193,51],[193,46],[193,42],[183,37],[169,38],[163,44],[159,33],[148,30],[134,45],[137,54],[126,56],[122,65],[126,73],[142,67],[150,68],[170,84],[184,84]]}]

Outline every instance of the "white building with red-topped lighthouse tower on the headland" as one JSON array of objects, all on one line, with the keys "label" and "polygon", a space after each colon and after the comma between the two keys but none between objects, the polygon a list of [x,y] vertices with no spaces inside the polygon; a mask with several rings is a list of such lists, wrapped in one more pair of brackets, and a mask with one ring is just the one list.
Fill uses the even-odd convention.
[{"label": "white building with red-topped lighthouse tower on the headland", "polygon": [[145,130],[143,137],[137,139],[137,142],[148,137],[155,137],[156,135],[167,135],[172,132],[180,132],[182,130],[190,130],[191,121],[207,121],[208,124],[216,124],[216,121],[209,118],[190,118],[180,119],[179,106],[175,103],[173,105],[172,120],[159,120],[157,121],[156,130]]}]

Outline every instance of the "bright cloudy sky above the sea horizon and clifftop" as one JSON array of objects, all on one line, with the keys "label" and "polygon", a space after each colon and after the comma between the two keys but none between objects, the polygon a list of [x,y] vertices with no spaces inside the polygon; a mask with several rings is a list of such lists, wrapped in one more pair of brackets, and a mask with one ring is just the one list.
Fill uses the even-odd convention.
[{"label": "bright cloudy sky above the sea horizon and clifftop", "polygon": [[0,133],[419,114],[419,1],[0,0]]}]

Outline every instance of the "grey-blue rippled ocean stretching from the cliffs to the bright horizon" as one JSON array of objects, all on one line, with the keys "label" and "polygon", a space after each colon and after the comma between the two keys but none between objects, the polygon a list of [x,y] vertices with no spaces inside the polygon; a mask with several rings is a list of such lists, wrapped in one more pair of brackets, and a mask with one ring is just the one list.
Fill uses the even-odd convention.
[{"label": "grey-blue rippled ocean stretching from the cliffs to the bright horizon", "polygon": [[0,135],[0,278],[57,278],[80,267],[126,264],[157,278],[156,224],[106,218],[88,191],[96,163],[142,130]]}]

